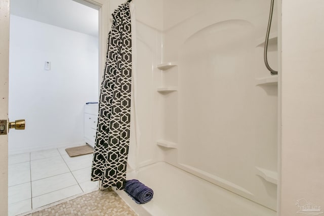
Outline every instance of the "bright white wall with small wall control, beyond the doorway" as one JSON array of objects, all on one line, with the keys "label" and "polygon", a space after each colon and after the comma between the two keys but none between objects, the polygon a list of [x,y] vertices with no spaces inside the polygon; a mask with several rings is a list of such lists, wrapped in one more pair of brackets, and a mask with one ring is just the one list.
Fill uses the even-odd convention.
[{"label": "bright white wall with small wall control, beyond the doorway", "polygon": [[[11,16],[9,153],[82,144],[84,104],[98,100],[98,39]],[[45,61],[51,70],[45,70]]]}]

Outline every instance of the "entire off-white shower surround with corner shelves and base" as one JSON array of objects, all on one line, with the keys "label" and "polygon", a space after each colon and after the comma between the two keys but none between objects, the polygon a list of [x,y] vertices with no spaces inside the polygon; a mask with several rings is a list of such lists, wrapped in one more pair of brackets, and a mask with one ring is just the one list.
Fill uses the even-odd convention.
[{"label": "entire off-white shower surround with corner shelves and base", "polygon": [[[110,13],[122,3],[111,0]],[[131,4],[137,142],[127,175],[154,190],[142,207],[152,215],[275,215],[278,79],[263,62],[270,1]],[[276,2],[273,14],[268,60],[277,70]]]}]

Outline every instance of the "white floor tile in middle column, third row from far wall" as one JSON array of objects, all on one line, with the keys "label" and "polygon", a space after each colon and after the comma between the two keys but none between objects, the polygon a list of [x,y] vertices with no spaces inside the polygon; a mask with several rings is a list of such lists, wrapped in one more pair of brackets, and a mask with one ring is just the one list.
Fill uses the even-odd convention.
[{"label": "white floor tile in middle column, third row from far wall", "polygon": [[32,197],[76,185],[71,172],[31,182]]}]

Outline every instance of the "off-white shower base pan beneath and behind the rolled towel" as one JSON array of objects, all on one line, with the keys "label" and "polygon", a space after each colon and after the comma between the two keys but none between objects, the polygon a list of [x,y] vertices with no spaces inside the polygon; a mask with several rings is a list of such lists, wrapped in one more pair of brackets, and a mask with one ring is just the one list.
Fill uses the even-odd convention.
[{"label": "off-white shower base pan beneath and behind the rolled towel", "polygon": [[128,174],[154,191],[153,199],[136,204],[125,191],[116,191],[139,215],[275,216],[276,212],[200,179],[166,162],[142,167]]}]

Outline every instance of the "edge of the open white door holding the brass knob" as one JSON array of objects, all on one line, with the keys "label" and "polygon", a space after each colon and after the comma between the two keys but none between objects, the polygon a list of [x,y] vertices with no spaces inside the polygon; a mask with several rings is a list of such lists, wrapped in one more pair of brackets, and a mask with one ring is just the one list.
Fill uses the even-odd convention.
[{"label": "edge of the open white door holding the brass knob", "polygon": [[[0,1],[0,119],[8,119],[9,3]],[[8,135],[0,135],[0,215],[8,215]]]}]

